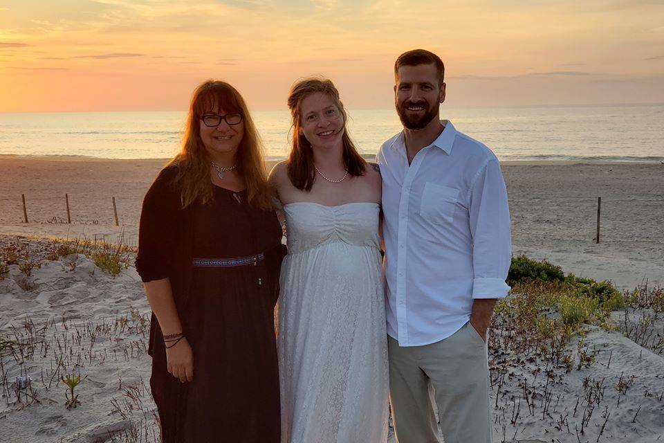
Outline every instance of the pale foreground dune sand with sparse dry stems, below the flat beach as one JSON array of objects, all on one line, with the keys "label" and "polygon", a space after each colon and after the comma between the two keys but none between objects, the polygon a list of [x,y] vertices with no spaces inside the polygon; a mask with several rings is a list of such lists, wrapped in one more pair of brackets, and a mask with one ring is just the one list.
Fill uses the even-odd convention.
[{"label": "pale foreground dune sand with sparse dry stems, below the flat beach", "polygon": [[[6,395],[0,403],[0,441],[158,441],[147,388],[149,307],[133,266],[113,276],[81,253],[49,260],[50,242],[0,237],[0,246],[8,245],[30,251],[41,266],[26,275],[11,264],[0,280],[0,336],[17,342],[13,351],[6,347],[0,353]],[[614,311],[614,323],[639,325],[643,314],[652,318],[647,309],[627,312],[625,321],[625,311]],[[631,334],[643,346],[621,331],[583,329],[584,336],[573,337],[563,350],[571,356],[570,369],[541,352],[506,354],[502,343],[514,337],[509,325],[495,323],[494,441],[664,438],[664,355],[649,347],[650,337],[653,343],[656,334],[664,337],[664,315],[647,325],[649,334]],[[593,362],[581,364],[581,352]],[[80,406],[68,410],[61,377],[71,372],[83,381],[75,390]],[[26,374],[30,386],[17,389],[17,377]]]}]

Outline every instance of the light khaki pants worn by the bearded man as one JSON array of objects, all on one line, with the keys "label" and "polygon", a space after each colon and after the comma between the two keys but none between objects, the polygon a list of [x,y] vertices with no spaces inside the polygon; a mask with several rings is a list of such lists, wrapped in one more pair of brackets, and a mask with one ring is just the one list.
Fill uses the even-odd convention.
[{"label": "light khaki pants worn by the bearded man", "polygon": [[400,347],[388,336],[389,393],[398,443],[490,443],[487,347],[470,322],[425,346]]}]

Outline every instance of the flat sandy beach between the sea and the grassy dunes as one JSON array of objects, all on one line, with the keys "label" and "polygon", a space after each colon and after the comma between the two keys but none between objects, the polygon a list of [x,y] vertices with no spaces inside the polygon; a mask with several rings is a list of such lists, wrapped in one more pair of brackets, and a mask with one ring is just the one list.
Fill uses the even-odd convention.
[{"label": "flat sandy beach between the sea and the grassy dunes", "polygon": [[[0,234],[116,241],[124,233],[125,242],[136,244],[140,202],[166,162],[0,157]],[[515,162],[502,169],[515,255],[546,258],[566,272],[610,279],[621,288],[664,283],[664,165]],[[29,224],[23,222],[22,194]],[[600,244],[594,242],[597,197]]]}]

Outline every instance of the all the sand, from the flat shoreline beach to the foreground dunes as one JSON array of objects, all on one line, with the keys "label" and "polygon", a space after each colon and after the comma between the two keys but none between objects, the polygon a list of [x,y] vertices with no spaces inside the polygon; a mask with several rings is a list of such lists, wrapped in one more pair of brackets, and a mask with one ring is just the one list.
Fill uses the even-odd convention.
[{"label": "all the sand, from the flat shoreline beach to the foreground dunes", "polygon": [[[111,275],[89,254],[53,256],[48,238],[136,244],[140,201],[164,164],[0,158],[0,247],[27,251],[40,263],[28,273],[10,264],[0,278],[1,442],[158,441],[145,353],[149,306],[136,270],[130,264]],[[664,165],[502,168],[515,254],[546,258],[564,271],[611,279],[621,288],[664,283]],[[597,197],[600,244],[594,242]],[[564,359],[531,342],[515,345],[513,320],[503,314],[489,347],[494,441],[662,441],[664,345],[658,340],[664,339],[664,316],[656,309],[614,311],[608,327],[584,326],[560,350]],[[71,372],[82,381],[76,388],[80,406],[68,410],[62,377]],[[30,377],[30,387],[17,386],[21,376]]]}]

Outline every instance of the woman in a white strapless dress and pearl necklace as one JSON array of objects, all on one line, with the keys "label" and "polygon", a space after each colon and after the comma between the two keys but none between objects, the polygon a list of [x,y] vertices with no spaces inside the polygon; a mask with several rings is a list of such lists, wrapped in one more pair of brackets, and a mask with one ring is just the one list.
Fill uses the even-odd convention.
[{"label": "woman in a white strapless dress and pearl necklace", "polygon": [[288,255],[279,296],[282,443],[384,443],[388,370],[380,174],[329,80],[288,96],[293,147],[270,173]]}]

